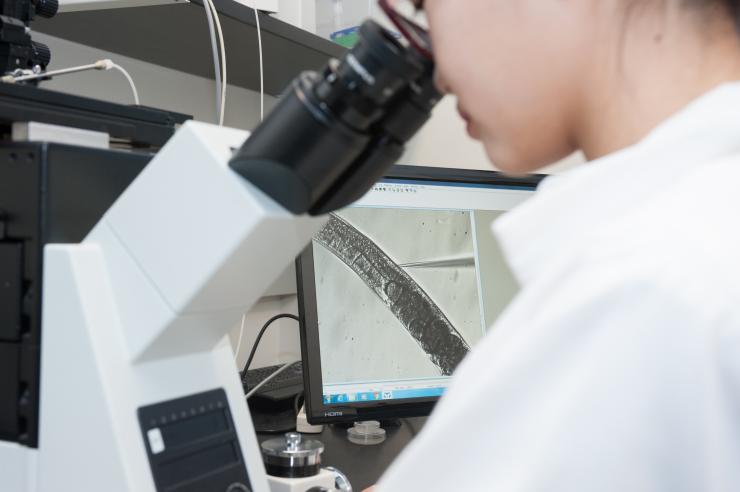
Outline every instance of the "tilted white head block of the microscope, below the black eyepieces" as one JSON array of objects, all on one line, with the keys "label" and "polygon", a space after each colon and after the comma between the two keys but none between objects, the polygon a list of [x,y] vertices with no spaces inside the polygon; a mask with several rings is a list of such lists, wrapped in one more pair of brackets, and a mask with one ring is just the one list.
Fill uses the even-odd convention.
[{"label": "tilted white head block of the microscope, below the black eyepieces", "polygon": [[85,239],[105,258],[132,362],[211,350],[324,224],[229,167],[246,136],[186,123]]}]

